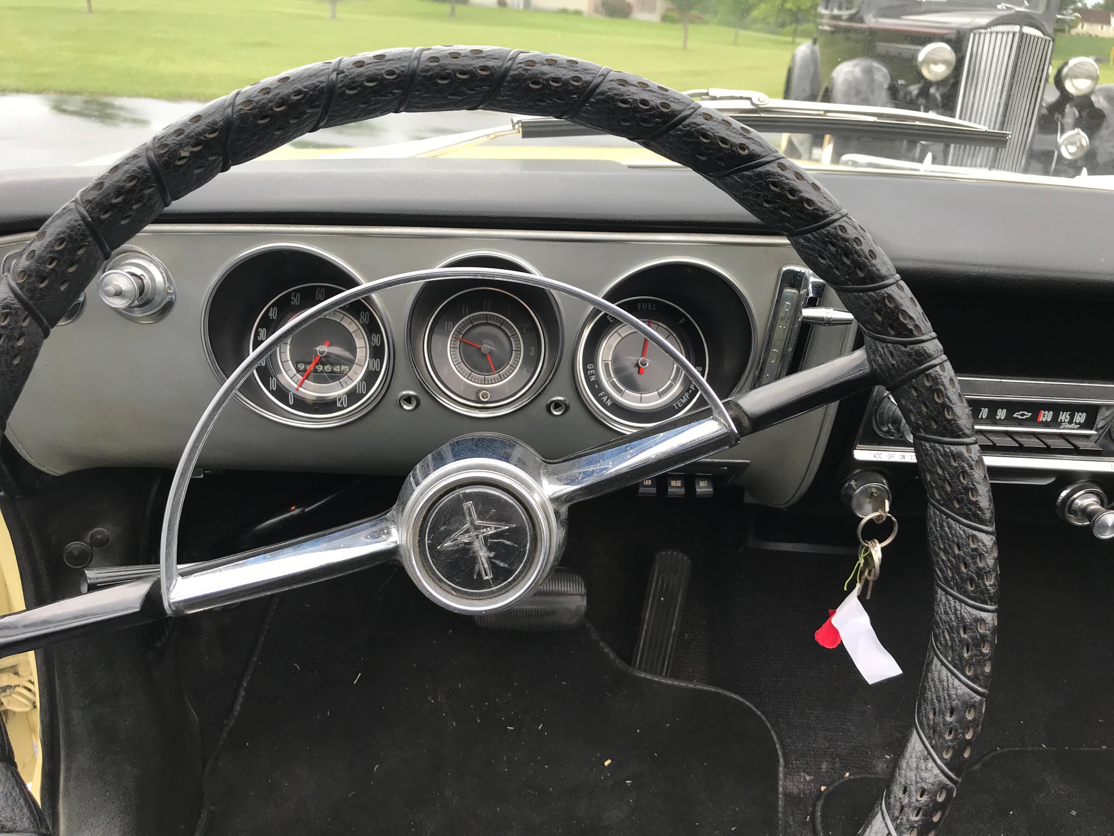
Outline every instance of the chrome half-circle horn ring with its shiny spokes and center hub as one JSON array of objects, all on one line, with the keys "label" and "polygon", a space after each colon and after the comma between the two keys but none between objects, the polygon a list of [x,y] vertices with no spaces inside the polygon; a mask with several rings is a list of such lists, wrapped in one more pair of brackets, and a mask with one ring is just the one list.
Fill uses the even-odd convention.
[{"label": "chrome half-circle horn ring with its shiny spokes and center hub", "polygon": [[[180,568],[178,527],[189,477],[216,419],[260,361],[281,341],[358,299],[413,282],[461,278],[557,291],[615,317],[658,346],[696,382],[712,416],[656,434],[651,430],[648,439],[632,436],[597,454],[589,451],[558,463],[547,463],[526,445],[501,436],[457,439],[422,459],[394,508],[363,526],[231,563]],[[370,565],[369,560],[395,556],[419,589],[449,610],[479,613],[506,609],[532,593],[556,565],[565,543],[568,505],[628,484],[635,476],[725,449],[736,439],[726,408],[692,363],[656,331],[593,293],[509,270],[442,268],[379,279],[339,293],[276,329],[228,376],[205,408],[178,460],[163,517],[163,609],[169,615],[184,615],[356,571]]]}]

